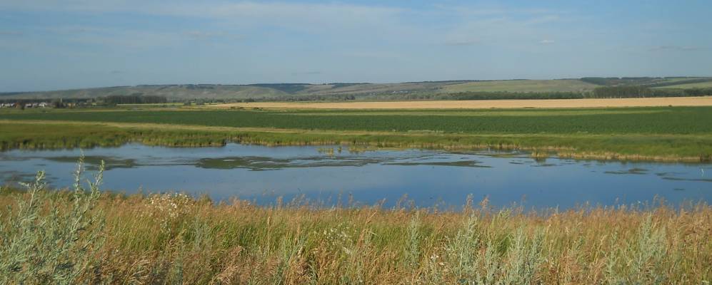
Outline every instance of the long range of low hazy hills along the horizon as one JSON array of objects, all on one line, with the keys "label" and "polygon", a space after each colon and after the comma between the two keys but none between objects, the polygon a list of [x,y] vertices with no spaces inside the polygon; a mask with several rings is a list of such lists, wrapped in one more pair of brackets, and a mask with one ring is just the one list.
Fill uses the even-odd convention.
[{"label": "long range of low hazy hills along the horizon", "polygon": [[265,83],[249,85],[181,84],[115,86],[26,93],[0,93],[0,100],[101,98],[109,95],[158,95],[171,101],[206,100],[329,100],[354,98],[426,98],[463,93],[590,93],[601,86],[648,88],[708,88],[712,78],[581,78],[504,81],[423,81],[406,83]]}]

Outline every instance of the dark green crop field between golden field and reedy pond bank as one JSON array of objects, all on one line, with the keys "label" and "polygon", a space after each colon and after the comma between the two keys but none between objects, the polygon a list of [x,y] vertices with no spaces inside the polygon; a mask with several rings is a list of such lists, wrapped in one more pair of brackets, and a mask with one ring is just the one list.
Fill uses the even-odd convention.
[{"label": "dark green crop field between golden field and reedy pond bank", "polygon": [[[234,128],[286,128],[306,130],[441,131],[444,133],[590,133],[590,134],[712,134],[712,108],[631,108],[610,110],[441,110],[403,112],[398,115],[367,111],[284,110],[136,110],[116,112],[49,112],[2,114],[9,120],[67,120],[114,123],[165,123]],[[641,112],[643,111],[643,112]],[[309,112],[304,113],[303,112]],[[352,113],[352,114],[351,114]],[[501,115],[498,115],[501,113]],[[516,115],[512,115],[516,113]],[[563,113],[558,115],[558,113]],[[523,118],[526,117],[526,118]]]}]

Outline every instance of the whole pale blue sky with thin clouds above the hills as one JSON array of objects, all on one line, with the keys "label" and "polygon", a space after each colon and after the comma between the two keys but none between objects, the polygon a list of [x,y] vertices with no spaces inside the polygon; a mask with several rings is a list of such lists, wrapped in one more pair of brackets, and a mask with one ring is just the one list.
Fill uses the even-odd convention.
[{"label": "whole pale blue sky with thin clouds above the hills", "polygon": [[0,92],[712,76],[712,1],[0,0]]}]

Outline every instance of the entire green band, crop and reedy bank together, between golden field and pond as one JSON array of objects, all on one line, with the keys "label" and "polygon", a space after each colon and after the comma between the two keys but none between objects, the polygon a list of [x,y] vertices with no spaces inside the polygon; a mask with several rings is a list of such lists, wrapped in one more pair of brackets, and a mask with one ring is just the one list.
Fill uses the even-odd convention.
[{"label": "entire green band, crop and reedy bank together, between golden field and pond", "polygon": [[344,144],[531,150],[582,159],[712,160],[712,108],[85,110],[0,113],[0,147]]}]

